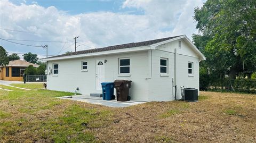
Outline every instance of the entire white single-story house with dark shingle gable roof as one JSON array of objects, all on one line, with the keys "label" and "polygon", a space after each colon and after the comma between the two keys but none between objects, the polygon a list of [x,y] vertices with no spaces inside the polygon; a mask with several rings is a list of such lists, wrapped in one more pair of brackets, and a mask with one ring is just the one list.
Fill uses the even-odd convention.
[{"label": "entire white single-story house with dark shingle gable roof", "polygon": [[199,61],[204,55],[186,35],[89,49],[45,58],[47,89],[90,95],[101,82],[132,80],[132,100],[181,98],[181,87],[199,89]]}]

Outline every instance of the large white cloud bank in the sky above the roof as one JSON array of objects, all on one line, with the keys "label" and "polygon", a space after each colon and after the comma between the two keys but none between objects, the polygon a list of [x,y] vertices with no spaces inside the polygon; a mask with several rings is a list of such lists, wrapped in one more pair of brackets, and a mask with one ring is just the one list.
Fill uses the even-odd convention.
[{"label": "large white cloud bank in the sky above the roof", "polygon": [[[91,12],[70,15],[54,6],[43,7],[37,3],[15,5],[4,0],[0,5],[1,28],[31,33],[1,30],[0,36],[1,38],[58,41],[73,41],[75,36],[79,36],[77,39],[79,43],[93,48],[183,34],[190,37],[193,32],[196,32],[192,18],[194,7],[201,5],[201,1],[190,0],[127,0],[121,9],[136,8],[144,14]],[[42,45],[44,43],[30,44]],[[50,55],[58,53],[63,46],[63,43],[46,44],[49,45]],[[69,45],[69,43],[65,44],[64,49]],[[81,45],[78,50],[87,48]],[[22,48],[22,50],[20,52],[35,51],[35,53],[41,54],[45,52],[43,49],[29,47]],[[10,49],[10,51],[14,51],[14,49]],[[74,46],[70,46],[65,51],[74,51]]]}]

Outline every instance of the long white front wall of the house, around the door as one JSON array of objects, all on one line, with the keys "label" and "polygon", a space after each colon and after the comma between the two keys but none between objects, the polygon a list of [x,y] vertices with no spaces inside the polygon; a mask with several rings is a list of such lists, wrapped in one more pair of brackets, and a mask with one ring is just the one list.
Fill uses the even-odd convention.
[{"label": "long white front wall of the house, around the door", "polygon": [[[130,58],[130,77],[118,75],[118,58],[123,57]],[[79,87],[78,92],[85,95],[102,92],[96,90],[96,60],[107,60],[105,63],[105,82],[114,82],[116,79],[132,80],[131,99],[148,100],[147,51],[48,61],[48,67],[51,69],[53,69],[53,63],[59,64],[59,74],[54,76],[52,70],[52,73],[47,75],[47,89],[75,92],[75,89]],[[87,61],[86,72],[81,70],[82,61]]]}]

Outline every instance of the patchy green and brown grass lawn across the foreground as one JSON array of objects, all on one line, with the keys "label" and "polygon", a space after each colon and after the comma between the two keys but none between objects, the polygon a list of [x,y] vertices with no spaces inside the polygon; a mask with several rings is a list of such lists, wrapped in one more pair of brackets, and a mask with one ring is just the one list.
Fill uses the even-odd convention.
[{"label": "patchy green and brown grass lawn across the foreground", "polygon": [[199,102],[111,108],[0,86],[2,142],[255,142],[256,96],[201,92]]}]

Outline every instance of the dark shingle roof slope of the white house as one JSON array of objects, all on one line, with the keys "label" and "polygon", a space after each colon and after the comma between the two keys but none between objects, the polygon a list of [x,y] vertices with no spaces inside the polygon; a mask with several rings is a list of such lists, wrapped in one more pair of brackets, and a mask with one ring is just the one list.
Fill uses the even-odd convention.
[{"label": "dark shingle roof slope of the white house", "polygon": [[[180,36],[182,36],[182,35],[180,35]],[[71,53],[68,53],[68,54],[51,56],[49,58],[62,57],[62,56],[71,56],[71,55],[80,55],[80,54],[88,54],[88,53],[96,53],[96,52],[111,51],[111,50],[115,50],[115,49],[124,49],[124,48],[140,47],[140,46],[149,46],[149,45],[152,45],[152,44],[156,44],[156,43],[166,41],[166,40],[170,40],[170,39],[180,37],[180,36],[167,37],[167,38],[148,40],[148,41],[141,41],[141,42],[137,42],[137,43],[128,43],[128,44],[122,44],[122,45],[108,46],[108,47],[103,47],[103,48],[88,49],[88,50],[84,50],[84,51],[77,51],[77,52],[71,52]]]}]

